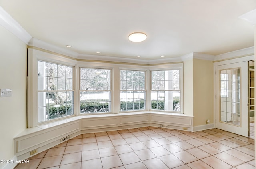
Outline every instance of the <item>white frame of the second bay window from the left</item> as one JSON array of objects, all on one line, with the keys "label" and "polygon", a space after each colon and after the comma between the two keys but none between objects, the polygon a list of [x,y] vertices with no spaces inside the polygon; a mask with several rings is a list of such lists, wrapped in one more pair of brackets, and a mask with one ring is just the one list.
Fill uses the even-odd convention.
[{"label": "white frame of the second bay window from the left", "polygon": [[[110,91],[110,104],[109,104],[109,107],[111,107],[110,111],[108,112],[95,112],[95,113],[81,113],[81,97],[80,97],[80,91],[97,91],[97,90],[81,90],[80,88],[80,84],[81,84],[81,68],[86,68],[86,69],[100,69],[100,70],[110,70],[110,90],[100,90],[101,92],[104,92],[104,91]],[[105,67],[98,67],[98,66],[80,66],[79,69],[79,76],[78,76],[78,79],[79,79],[79,82],[78,82],[78,114],[79,115],[95,115],[95,114],[108,114],[108,113],[113,113],[113,68],[105,68]]]}]

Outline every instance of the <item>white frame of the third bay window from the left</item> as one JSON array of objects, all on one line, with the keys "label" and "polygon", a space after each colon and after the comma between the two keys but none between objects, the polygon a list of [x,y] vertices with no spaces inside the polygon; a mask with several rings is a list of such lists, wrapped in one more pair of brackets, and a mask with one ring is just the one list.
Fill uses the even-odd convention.
[{"label": "white frame of the third bay window from the left", "polygon": [[[138,72],[145,72],[144,75],[144,90],[121,90],[121,71],[125,70],[125,71],[138,71]],[[119,68],[119,113],[126,113],[126,112],[136,112],[136,111],[146,111],[147,110],[147,95],[148,95],[148,91],[147,91],[147,76],[148,76],[148,71],[147,69],[131,69],[131,68]],[[122,91],[144,91],[145,95],[144,95],[144,109],[136,109],[134,110],[134,106],[132,110],[126,110],[126,111],[121,111],[121,92]]]}]

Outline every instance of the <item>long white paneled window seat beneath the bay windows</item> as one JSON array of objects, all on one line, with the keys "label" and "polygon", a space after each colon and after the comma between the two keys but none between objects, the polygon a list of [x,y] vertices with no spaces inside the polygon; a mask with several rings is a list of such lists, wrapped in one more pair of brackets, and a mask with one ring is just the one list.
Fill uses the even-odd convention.
[{"label": "long white paneled window seat beneath the bay windows", "polygon": [[[43,127],[28,128],[16,138],[14,138],[14,148],[17,159],[27,159],[30,157],[30,151],[37,149],[38,153],[45,151],[55,145],[60,144],[60,139],[68,135],[74,138],[80,134],[96,133],[103,131],[113,131],[121,129],[132,129],[138,127],[168,125],[171,129],[183,130],[186,127],[188,131],[193,129],[193,117],[183,114],[174,115],[161,112],[136,112],[106,114],[104,117],[96,115],[84,115],[80,118],[71,118],[72,120],[62,121],[56,125],[43,125]],[[38,128],[38,129],[37,129]],[[35,154],[36,155],[36,154]]]}]

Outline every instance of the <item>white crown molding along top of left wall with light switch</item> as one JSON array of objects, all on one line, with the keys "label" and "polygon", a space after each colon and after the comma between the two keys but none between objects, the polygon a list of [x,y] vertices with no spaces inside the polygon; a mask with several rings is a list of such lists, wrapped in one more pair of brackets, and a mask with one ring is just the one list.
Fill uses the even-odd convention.
[{"label": "white crown molding along top of left wall with light switch", "polygon": [[32,36],[0,6],[0,25],[28,44]]}]

